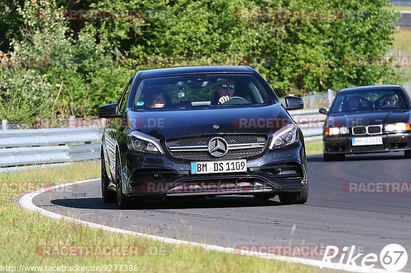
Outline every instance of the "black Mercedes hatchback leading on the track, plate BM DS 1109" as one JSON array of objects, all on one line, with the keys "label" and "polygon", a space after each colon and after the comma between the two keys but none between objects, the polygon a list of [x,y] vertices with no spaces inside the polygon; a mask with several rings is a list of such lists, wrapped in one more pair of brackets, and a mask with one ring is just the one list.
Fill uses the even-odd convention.
[{"label": "black Mercedes hatchback leading on the track, plate BM DS 1109", "polygon": [[253,195],[305,203],[303,134],[247,66],[138,71],[106,118],[101,149],[102,195],[120,208],[146,200]]}]

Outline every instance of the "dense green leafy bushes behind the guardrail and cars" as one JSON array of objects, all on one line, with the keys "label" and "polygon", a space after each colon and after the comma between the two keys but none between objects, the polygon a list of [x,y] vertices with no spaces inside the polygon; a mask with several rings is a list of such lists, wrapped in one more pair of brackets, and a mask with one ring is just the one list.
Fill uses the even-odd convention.
[{"label": "dense green leafy bushes behind the guardrail and cars", "polygon": [[[0,71],[0,116],[14,122],[94,116],[146,68],[247,64],[279,96],[399,80],[390,67],[347,63],[390,49],[399,14],[385,0],[9,2],[0,5],[0,22],[13,26],[8,54],[49,60],[45,67]],[[89,22],[39,17],[58,8],[128,9],[139,16]],[[279,15],[285,11],[308,15]],[[316,12],[326,16],[316,18]]]}]

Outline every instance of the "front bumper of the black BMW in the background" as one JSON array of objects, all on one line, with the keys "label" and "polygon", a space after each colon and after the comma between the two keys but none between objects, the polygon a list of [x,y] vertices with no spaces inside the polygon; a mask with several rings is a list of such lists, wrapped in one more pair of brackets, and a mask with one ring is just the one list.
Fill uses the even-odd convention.
[{"label": "front bumper of the black BMW in the background", "polygon": [[[354,137],[381,136],[383,144],[353,146]],[[386,133],[365,136],[323,136],[324,154],[365,154],[411,150],[411,133]]]}]

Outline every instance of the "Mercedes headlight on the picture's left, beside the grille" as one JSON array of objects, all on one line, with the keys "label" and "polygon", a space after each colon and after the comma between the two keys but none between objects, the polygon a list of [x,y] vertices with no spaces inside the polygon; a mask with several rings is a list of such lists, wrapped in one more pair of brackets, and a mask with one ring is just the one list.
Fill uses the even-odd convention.
[{"label": "Mercedes headlight on the picture's left, beside the grille", "polygon": [[154,136],[139,131],[127,134],[128,149],[147,154],[164,154],[160,140]]}]

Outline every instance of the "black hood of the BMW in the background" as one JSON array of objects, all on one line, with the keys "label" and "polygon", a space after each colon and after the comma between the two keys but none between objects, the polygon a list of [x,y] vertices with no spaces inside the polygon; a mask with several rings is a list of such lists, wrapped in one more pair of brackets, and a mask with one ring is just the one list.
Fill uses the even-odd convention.
[{"label": "black hood of the BMW in the background", "polygon": [[328,127],[332,126],[353,126],[353,125],[373,125],[396,122],[409,122],[410,110],[373,110],[354,113],[330,114],[327,119]]}]

